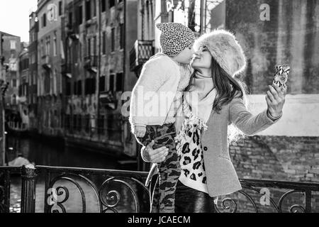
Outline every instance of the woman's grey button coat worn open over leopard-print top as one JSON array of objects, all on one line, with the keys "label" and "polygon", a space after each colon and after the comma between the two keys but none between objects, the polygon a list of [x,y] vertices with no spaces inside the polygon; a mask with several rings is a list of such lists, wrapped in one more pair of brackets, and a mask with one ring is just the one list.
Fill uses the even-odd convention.
[{"label": "woman's grey button coat worn open over leopard-print top", "polygon": [[[272,120],[267,110],[253,116],[247,110],[242,98],[235,96],[229,104],[222,107],[220,114],[211,111],[208,120],[208,130],[201,137],[203,159],[206,172],[208,194],[211,197],[231,194],[242,189],[235,167],[228,150],[228,126],[234,124],[245,135],[255,135],[278,122],[282,117]],[[141,150],[141,154],[142,151]],[[145,160],[145,157],[143,157]],[[150,183],[156,174],[156,164],[153,164],[146,180]]]}]

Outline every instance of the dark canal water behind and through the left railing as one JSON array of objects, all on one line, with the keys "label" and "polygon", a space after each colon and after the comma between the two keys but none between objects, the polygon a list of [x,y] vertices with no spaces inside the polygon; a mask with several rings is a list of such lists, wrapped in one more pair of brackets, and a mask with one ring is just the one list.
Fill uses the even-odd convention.
[{"label": "dark canal water behind and through the left railing", "polygon": [[[38,139],[30,137],[18,137],[9,135],[7,137],[7,157],[9,161],[13,160],[18,153],[26,157],[35,165],[59,166],[59,167],[86,167],[108,170],[136,170],[134,165],[123,167],[119,164],[118,158],[110,157],[103,153],[94,153],[81,148],[69,148],[62,142],[57,140]],[[36,184],[36,199],[35,212],[42,213],[44,211],[45,199],[45,179],[38,177]],[[67,202],[67,211],[81,211],[82,200],[77,192],[77,188],[69,182],[60,182],[63,186],[69,189],[69,199]],[[59,186],[60,186],[59,184]],[[90,190],[84,182],[81,183],[84,191]],[[125,192],[124,192],[125,193]],[[94,193],[88,193],[86,201],[91,201],[91,204],[86,204],[87,212],[97,212],[98,203]],[[21,211],[21,179],[13,177],[11,179],[11,207],[10,211],[18,213]],[[123,204],[123,207],[132,207],[131,204]],[[57,207],[58,208],[58,207]]]}]

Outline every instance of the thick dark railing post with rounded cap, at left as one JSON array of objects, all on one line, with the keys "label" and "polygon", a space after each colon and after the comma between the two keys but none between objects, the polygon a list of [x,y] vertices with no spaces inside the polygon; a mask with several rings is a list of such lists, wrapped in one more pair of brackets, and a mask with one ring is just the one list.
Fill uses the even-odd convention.
[{"label": "thick dark railing post with rounded cap, at left", "polygon": [[35,213],[35,173],[34,165],[23,165],[21,168],[21,213]]}]

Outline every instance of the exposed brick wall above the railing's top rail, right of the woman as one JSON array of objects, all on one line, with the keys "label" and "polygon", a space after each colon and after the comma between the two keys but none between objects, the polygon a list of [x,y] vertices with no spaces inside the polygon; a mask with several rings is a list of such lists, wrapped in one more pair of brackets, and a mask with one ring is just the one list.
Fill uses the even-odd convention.
[{"label": "exposed brick wall above the railing's top rail, right of the woman", "polygon": [[240,178],[319,182],[318,137],[245,137],[230,155]]}]

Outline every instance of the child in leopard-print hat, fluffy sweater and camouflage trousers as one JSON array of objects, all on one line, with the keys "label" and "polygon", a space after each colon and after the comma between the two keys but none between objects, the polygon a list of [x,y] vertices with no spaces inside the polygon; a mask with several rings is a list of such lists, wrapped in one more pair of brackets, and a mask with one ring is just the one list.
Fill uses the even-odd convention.
[{"label": "child in leopard-print hat, fluffy sweater and camouflage trousers", "polygon": [[[156,26],[162,31],[162,52],[151,57],[142,68],[130,102],[130,124],[138,143],[146,146],[154,140],[153,149],[163,145],[169,148],[166,160],[157,164],[159,212],[174,213],[175,189],[181,174],[174,142],[175,123],[181,114],[182,92],[191,77],[190,68],[181,64],[191,62],[195,36],[181,23]],[[154,107],[151,114],[150,106]]]}]

